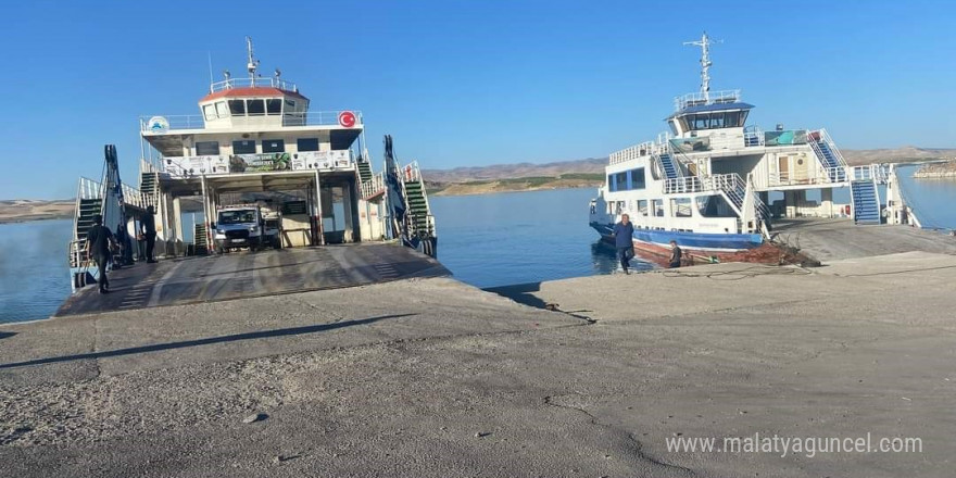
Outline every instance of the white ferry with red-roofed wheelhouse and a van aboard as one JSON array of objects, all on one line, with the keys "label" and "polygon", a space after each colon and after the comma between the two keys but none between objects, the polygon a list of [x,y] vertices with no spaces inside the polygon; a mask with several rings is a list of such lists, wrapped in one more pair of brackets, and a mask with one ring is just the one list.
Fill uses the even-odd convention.
[{"label": "white ferry with red-roofed wheelhouse and a van aboard", "polygon": [[[140,118],[139,186],[122,181],[116,150],[101,178],[80,178],[70,247],[74,287],[92,277],[85,241],[93,216],[131,238],[154,211],[155,255],[175,257],[261,247],[301,248],[400,240],[435,256],[437,232],[417,162],[400,165],[386,137],[385,168],[374,172],[365,117],[356,110],[314,111],[299,87],[262,76],[246,38],[248,77],[211,81],[198,115]],[[248,209],[248,214],[237,210]],[[216,224],[223,211],[248,218]],[[225,216],[223,216],[225,217]],[[246,219],[243,219],[246,221]],[[225,219],[223,221],[225,223]]]}]

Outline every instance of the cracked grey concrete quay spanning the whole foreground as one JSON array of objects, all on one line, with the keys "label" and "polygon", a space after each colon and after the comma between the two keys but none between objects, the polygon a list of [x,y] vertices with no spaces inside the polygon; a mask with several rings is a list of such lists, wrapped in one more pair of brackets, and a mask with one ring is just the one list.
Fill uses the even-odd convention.
[{"label": "cracked grey concrete quay spanning the whole foreground", "polygon": [[[500,290],[563,312],[433,277],[3,326],[0,463],[17,477],[948,477],[954,281],[956,256],[910,252]],[[666,442],[754,433],[922,450]]]}]

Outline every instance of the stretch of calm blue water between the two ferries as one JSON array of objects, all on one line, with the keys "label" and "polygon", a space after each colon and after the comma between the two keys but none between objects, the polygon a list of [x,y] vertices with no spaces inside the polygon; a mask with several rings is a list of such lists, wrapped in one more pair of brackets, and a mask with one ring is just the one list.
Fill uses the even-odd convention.
[{"label": "stretch of calm blue water between the two ferries", "polygon": [[429,198],[438,259],[456,279],[477,287],[608,274],[618,267],[614,250],[588,226],[594,196],[588,188]]}]

